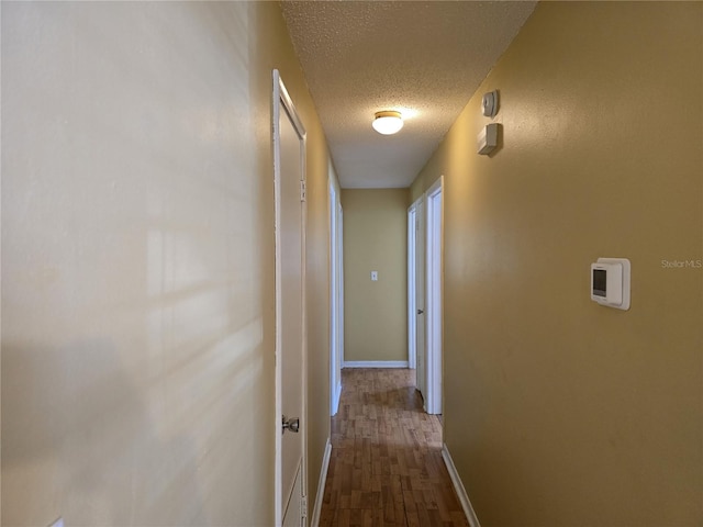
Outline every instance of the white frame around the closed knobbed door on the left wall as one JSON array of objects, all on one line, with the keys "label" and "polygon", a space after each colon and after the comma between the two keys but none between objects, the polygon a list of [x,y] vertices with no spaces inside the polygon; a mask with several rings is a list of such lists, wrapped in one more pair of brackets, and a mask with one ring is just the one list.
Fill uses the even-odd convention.
[{"label": "white frame around the closed knobbed door on the left wall", "polygon": [[[305,128],[298,116],[295,106],[288,90],[280,78],[280,74],[277,69],[274,70],[274,90],[272,90],[272,131],[274,131],[274,197],[275,197],[275,222],[276,222],[276,404],[274,415],[274,430],[275,430],[275,522],[277,526],[280,526],[283,522],[283,491],[282,491],[282,473],[281,473],[281,415],[282,415],[282,372],[281,372],[281,351],[282,351],[282,337],[281,337],[281,321],[282,321],[282,268],[281,268],[281,159],[280,159],[280,116],[281,110],[288,114],[301,139],[301,201],[302,203],[302,217],[301,217],[301,238],[302,238],[302,261],[301,261],[301,288],[302,288],[302,408],[301,408],[301,431],[302,435],[302,460],[300,470],[301,483],[302,483],[302,500],[308,495],[308,480],[305,463],[308,460],[308,332],[306,332],[306,309],[305,309],[305,223],[306,223],[306,206],[304,200],[304,186],[305,186]],[[287,496],[286,496],[287,497]]]}]

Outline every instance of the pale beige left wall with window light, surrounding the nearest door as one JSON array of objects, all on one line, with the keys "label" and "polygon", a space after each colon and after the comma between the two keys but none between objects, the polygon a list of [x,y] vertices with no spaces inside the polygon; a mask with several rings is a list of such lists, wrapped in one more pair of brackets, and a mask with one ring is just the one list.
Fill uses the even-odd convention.
[{"label": "pale beige left wall with window light, surrounding the nearest door", "polygon": [[2,525],[272,525],[275,67],[308,130],[314,503],[328,155],[278,4],[1,9]]}]

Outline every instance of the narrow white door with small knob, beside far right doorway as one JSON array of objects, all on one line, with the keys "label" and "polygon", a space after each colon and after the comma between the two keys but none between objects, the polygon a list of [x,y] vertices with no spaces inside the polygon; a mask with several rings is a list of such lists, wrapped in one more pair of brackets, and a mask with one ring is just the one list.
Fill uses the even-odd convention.
[{"label": "narrow white door with small knob, beside far right doorway", "polygon": [[421,199],[415,202],[415,377],[417,390],[423,396],[423,405],[427,410],[425,345],[425,203],[424,199]]}]

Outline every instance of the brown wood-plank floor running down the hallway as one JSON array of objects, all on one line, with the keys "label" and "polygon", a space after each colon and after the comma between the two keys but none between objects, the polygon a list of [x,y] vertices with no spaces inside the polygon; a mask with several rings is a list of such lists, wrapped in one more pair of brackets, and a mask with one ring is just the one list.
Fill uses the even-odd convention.
[{"label": "brown wood-plank floor running down the hallway", "polygon": [[321,526],[468,526],[406,369],[344,369]]}]

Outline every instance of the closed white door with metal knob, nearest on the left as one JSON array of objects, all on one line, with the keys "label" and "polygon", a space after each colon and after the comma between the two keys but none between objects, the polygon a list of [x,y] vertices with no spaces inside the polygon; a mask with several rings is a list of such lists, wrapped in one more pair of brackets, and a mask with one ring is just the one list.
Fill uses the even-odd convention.
[{"label": "closed white door with metal knob, nearest on the left", "polygon": [[297,527],[303,525],[305,508],[304,155],[304,128],[278,71],[274,71],[276,525]]}]

